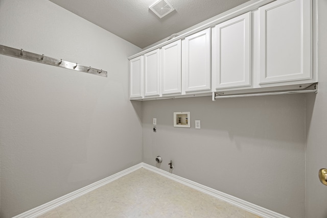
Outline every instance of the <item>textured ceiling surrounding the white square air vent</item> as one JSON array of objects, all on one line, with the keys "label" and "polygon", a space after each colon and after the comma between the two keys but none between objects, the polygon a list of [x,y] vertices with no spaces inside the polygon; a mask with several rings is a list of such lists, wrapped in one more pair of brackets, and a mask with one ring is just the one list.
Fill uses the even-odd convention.
[{"label": "textured ceiling surrounding the white square air vent", "polygon": [[157,0],[50,1],[143,49],[249,0],[168,0],[175,11],[161,19]]}]

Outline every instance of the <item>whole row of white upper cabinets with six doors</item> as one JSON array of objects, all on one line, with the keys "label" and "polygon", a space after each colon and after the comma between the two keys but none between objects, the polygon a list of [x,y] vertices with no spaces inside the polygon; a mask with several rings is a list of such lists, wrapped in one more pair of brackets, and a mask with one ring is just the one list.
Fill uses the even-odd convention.
[{"label": "whole row of white upper cabinets with six doors", "polygon": [[318,82],[312,0],[259,2],[130,57],[130,99],[304,89]]}]

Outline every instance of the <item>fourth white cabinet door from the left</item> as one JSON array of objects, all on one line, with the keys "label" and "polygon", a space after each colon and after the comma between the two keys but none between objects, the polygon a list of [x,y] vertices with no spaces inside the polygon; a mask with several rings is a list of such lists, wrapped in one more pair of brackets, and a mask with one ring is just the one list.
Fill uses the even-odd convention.
[{"label": "fourth white cabinet door from the left", "polygon": [[183,66],[185,92],[211,88],[211,36],[210,28],[185,38]]}]

